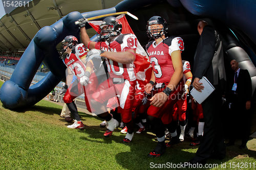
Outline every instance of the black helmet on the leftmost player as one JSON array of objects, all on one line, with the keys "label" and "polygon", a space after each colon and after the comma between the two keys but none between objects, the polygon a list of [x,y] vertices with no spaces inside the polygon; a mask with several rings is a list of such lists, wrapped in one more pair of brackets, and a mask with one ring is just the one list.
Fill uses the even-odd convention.
[{"label": "black helmet on the leftmost player", "polygon": [[[67,57],[67,54],[65,52],[67,51],[67,48],[73,48],[76,44],[78,44],[78,40],[73,35],[68,35],[61,41],[61,51],[59,52],[60,58],[65,59]],[[66,46],[66,47],[65,47]]]}]

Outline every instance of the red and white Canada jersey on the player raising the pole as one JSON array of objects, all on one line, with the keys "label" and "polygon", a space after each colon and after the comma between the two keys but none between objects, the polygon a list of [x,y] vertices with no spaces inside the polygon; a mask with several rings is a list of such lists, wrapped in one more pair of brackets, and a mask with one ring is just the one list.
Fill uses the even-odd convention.
[{"label": "red and white Canada jersey on the player raising the pole", "polygon": [[[97,42],[95,48],[106,52],[125,52],[128,49],[136,50],[138,40],[134,34],[119,35],[110,44],[106,41]],[[122,64],[116,61],[106,59],[106,65],[111,78],[124,78],[129,81],[136,80],[134,64]]]}]

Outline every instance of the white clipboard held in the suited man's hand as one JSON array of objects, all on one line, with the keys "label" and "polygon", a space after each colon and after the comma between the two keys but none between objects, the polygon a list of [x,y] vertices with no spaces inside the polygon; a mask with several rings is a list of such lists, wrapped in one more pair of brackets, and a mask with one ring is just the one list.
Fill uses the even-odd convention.
[{"label": "white clipboard held in the suited man's hand", "polygon": [[202,85],[204,86],[202,92],[197,91],[193,87],[193,89],[190,91],[190,94],[199,104],[201,104],[206,98],[208,98],[208,96],[215,90],[215,88],[214,86],[212,86],[212,84],[206,77],[202,77],[202,79],[200,79],[199,82],[203,83]]}]

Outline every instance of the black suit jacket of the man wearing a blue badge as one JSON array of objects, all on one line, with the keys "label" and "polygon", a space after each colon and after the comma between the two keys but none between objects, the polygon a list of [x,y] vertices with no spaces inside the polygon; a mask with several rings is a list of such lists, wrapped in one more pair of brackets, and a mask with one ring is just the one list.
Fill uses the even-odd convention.
[{"label": "black suit jacket of the man wearing a blue badge", "polygon": [[[232,74],[232,78],[234,78],[234,74]],[[232,81],[231,81],[232,80]],[[234,84],[234,79],[230,79],[229,82],[229,100],[232,101],[232,87]],[[251,93],[252,93],[252,86],[251,86],[251,77],[247,69],[240,69],[238,80],[237,80],[237,90],[236,93],[238,95],[238,102],[241,104],[245,104],[246,101],[251,101]]]}]

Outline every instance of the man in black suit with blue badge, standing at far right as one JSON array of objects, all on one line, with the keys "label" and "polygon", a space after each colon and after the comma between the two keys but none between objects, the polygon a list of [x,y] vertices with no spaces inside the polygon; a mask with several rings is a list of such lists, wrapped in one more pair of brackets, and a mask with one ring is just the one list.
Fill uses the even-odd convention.
[{"label": "man in black suit with blue badge, standing at far right", "polygon": [[247,69],[240,69],[236,60],[230,62],[234,74],[229,82],[227,100],[230,109],[230,138],[227,147],[234,144],[237,136],[242,137],[240,149],[246,148],[249,140],[249,110],[251,108],[251,78]]}]

